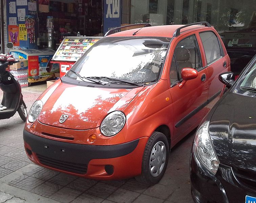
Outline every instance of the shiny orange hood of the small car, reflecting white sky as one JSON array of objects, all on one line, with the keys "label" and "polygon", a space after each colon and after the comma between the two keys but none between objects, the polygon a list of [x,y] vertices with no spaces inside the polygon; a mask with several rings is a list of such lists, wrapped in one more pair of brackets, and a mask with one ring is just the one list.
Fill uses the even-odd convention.
[{"label": "shiny orange hood of the small car, reflecting white sky", "polygon": [[[43,105],[38,120],[67,129],[97,128],[109,112],[122,111],[142,89],[94,88],[60,83]],[[41,100],[45,100],[44,97]],[[61,123],[63,114],[68,118]]]}]

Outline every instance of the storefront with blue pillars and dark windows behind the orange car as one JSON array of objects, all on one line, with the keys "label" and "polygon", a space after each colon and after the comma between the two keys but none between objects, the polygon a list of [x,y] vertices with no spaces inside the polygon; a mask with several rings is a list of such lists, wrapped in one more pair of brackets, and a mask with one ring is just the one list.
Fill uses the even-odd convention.
[{"label": "storefront with blue pillars and dark windows behind the orange car", "polygon": [[219,32],[255,27],[256,0],[6,0],[8,39],[18,49],[57,50],[66,36],[102,36],[123,24],[207,21]]}]

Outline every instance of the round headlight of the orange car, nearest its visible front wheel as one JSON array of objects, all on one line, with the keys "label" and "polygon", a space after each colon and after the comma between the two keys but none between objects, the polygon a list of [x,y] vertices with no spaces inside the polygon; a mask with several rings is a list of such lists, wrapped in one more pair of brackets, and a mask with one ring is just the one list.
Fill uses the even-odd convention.
[{"label": "round headlight of the orange car, nearest its visible front wheel", "polygon": [[125,114],[122,111],[113,111],[108,114],[101,123],[101,133],[105,136],[113,136],[119,133],[125,125]]}]

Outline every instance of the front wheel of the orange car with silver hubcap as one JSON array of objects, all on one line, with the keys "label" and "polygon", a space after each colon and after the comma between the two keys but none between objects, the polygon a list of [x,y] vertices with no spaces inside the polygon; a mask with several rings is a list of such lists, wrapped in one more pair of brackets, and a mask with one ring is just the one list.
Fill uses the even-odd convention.
[{"label": "front wheel of the orange car with silver hubcap", "polygon": [[164,176],[168,158],[169,144],[167,137],[163,133],[153,132],[144,150],[142,173],[135,179],[146,184],[158,183]]}]

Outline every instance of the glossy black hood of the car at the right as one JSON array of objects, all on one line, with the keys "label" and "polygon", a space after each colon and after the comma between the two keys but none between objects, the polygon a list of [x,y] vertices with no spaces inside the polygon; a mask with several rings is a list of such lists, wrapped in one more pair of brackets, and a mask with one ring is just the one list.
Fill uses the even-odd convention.
[{"label": "glossy black hood of the car at the right", "polygon": [[227,93],[212,115],[209,132],[222,164],[256,171],[256,98]]}]

